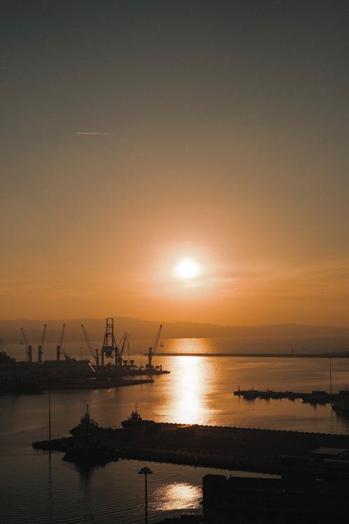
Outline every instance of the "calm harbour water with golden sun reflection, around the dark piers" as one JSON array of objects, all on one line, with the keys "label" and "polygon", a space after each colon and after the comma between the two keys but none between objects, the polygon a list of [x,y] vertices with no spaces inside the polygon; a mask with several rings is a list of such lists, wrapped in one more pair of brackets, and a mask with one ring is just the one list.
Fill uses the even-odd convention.
[{"label": "calm harbour water with golden sun reflection, around the dark piers", "polygon": [[[294,341],[295,342],[295,341]],[[299,342],[299,341],[298,341]],[[245,345],[244,345],[245,344]],[[246,351],[247,342],[241,345]],[[148,342],[136,340],[124,358],[145,364]],[[25,350],[9,345],[10,356],[20,360]],[[295,352],[293,358],[154,356],[154,364],[170,374],[154,377],[152,384],[89,391],[52,391],[52,437],[68,435],[87,406],[103,427],[119,428],[137,403],[143,419],[154,421],[270,428],[303,432],[349,434],[349,421],[329,405],[312,406],[301,400],[244,400],[233,392],[268,388],[274,391],[332,391],[349,384],[349,359],[311,358],[311,351],[329,347],[295,343],[250,344],[251,352]],[[343,348],[340,348],[343,349]],[[228,339],[163,340],[160,351],[211,353],[237,351]],[[334,347],[332,347],[334,350]],[[66,344],[75,358],[89,357],[82,344]],[[309,351],[309,357],[306,352]],[[299,356],[297,357],[297,352]],[[54,344],[44,348],[44,358],[54,358]],[[260,476],[210,468],[117,460],[104,467],[80,468],[62,460],[63,454],[32,449],[36,440],[48,437],[48,393],[0,397],[0,521],[13,524],[126,524],[144,522],[144,476],[147,466],[149,523],[184,513],[202,513],[202,476],[209,473]]]}]

